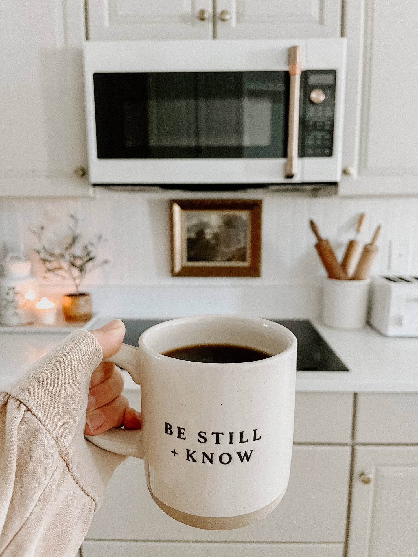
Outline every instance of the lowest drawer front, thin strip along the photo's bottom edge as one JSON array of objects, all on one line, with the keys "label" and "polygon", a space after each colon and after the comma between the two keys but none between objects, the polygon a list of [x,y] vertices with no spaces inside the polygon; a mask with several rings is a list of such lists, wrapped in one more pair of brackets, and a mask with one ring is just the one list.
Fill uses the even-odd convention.
[{"label": "lowest drawer front, thin strip along the photo's bottom edge", "polygon": [[85,541],[83,557],[342,557],[342,544],[205,544]]}]

